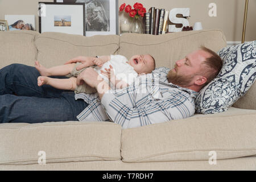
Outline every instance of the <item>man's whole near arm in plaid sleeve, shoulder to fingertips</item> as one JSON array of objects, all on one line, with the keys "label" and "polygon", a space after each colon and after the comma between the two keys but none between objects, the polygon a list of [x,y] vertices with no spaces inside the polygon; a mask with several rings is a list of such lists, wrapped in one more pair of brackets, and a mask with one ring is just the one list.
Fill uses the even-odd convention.
[{"label": "man's whole near arm in plaid sleeve, shoulder to fingertips", "polygon": [[[77,80],[79,83],[85,81],[97,89],[106,114],[123,129],[187,118],[195,113],[194,101],[187,97],[185,92],[182,96],[177,93],[163,100],[154,100],[150,93],[135,93],[136,90],[129,93],[127,98],[117,97],[110,92],[109,85],[98,76],[94,69],[88,68],[80,73]],[[142,94],[142,97],[136,101],[139,94]]]}]

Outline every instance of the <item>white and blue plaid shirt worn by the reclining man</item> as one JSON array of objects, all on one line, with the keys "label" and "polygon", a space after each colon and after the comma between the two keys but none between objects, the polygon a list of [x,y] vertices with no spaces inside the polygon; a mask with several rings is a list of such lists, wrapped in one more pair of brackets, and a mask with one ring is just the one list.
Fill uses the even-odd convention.
[{"label": "white and blue plaid shirt worn by the reclining man", "polygon": [[191,117],[197,92],[168,83],[170,69],[158,68],[139,77],[133,85],[97,93],[75,95],[89,105],[77,115],[79,121],[113,121],[123,129]]}]

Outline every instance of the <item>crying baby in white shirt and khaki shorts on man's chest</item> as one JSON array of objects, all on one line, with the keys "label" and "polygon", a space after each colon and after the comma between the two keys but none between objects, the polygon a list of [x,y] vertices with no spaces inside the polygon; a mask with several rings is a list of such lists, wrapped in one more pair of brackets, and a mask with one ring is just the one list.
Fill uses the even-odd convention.
[{"label": "crying baby in white shirt and khaki shorts on man's chest", "polygon": [[[96,72],[105,80],[111,81],[114,89],[121,89],[128,86],[139,75],[151,73],[155,69],[155,59],[151,55],[134,55],[129,60],[122,55],[82,57],[88,61],[89,67],[93,67]],[[96,93],[97,90],[89,85],[77,85],[76,77],[84,71],[83,68],[76,70],[81,63],[64,64],[57,67],[45,68],[38,61],[35,61],[35,68],[39,71],[38,86],[44,84],[51,85],[57,89],[73,90],[75,93]],[[111,68],[111,69],[110,69]],[[110,71],[114,74],[110,75]],[[113,73],[113,72],[112,72]],[[71,78],[51,78],[48,76],[67,76],[71,74]],[[110,76],[112,77],[110,79]],[[114,79],[113,79],[114,76]]]}]

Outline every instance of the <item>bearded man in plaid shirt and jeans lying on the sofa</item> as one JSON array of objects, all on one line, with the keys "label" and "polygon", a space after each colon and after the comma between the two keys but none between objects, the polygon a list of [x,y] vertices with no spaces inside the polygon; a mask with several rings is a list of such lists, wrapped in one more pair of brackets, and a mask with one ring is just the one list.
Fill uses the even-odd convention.
[{"label": "bearded man in plaid shirt and jeans lying on the sofa", "polygon": [[[86,61],[81,59],[68,63],[79,61],[83,63],[80,68],[86,67]],[[195,113],[197,93],[216,77],[221,66],[220,57],[202,47],[176,61],[167,77],[158,80],[155,76],[145,76],[139,84],[114,93],[97,72],[88,68],[77,77],[77,84],[86,82],[98,93],[75,95],[48,85],[39,87],[39,73],[35,68],[13,64],[0,70],[0,121],[35,123],[110,119],[125,129],[187,118]]]}]

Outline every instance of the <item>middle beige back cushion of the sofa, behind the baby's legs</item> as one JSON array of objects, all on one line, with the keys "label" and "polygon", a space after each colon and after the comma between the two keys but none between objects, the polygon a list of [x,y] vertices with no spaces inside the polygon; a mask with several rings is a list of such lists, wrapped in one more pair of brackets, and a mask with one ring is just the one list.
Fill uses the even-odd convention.
[{"label": "middle beige back cushion of the sofa, behind the baby's legs", "polygon": [[119,47],[118,35],[81,36],[59,32],[43,32],[36,37],[39,60],[44,66],[64,64],[77,56],[114,54]]}]

